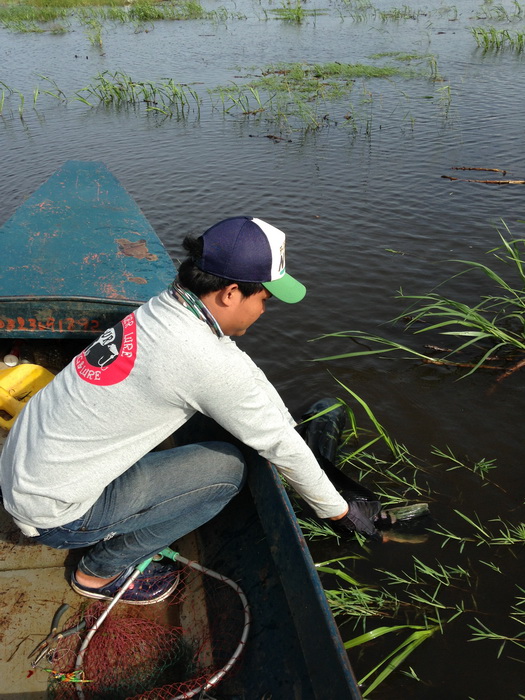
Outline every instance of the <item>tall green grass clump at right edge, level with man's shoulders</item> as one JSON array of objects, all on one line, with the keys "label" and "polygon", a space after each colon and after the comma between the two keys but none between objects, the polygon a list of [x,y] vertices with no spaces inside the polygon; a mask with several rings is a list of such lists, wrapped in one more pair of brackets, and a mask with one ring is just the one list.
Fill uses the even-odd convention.
[{"label": "tall green grass clump at right edge, level with man's shoulders", "polygon": [[[457,341],[454,348],[432,346],[441,353],[436,358],[435,354],[422,352],[398,341],[352,330],[326,334],[320,338],[347,338],[365,349],[318,358],[317,361],[402,352],[427,364],[464,367],[468,371],[462,377],[480,368],[502,370],[497,381],[525,366],[525,239],[512,238],[506,227],[505,231],[498,232],[501,245],[488,251],[488,254],[505,266],[508,277],[487,264],[469,260],[451,261],[462,265],[463,269],[449,280],[477,272],[493,285],[494,293],[482,294],[478,303],[467,304],[434,291],[416,295],[405,294],[401,290],[398,295],[398,298],[410,301],[411,306],[397,316],[394,323],[403,321],[407,330],[414,329],[414,336],[437,332],[448,340],[454,338]],[[476,353],[477,357],[467,362],[458,359],[466,351]],[[518,357],[512,352],[517,352]],[[508,367],[502,367],[502,363]]]}]

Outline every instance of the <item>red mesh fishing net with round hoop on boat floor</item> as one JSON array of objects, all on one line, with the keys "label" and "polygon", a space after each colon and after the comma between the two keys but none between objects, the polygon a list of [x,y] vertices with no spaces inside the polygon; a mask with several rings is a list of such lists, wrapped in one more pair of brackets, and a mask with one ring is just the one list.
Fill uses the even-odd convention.
[{"label": "red mesh fishing net with round hoop on boat floor", "polygon": [[49,663],[49,697],[182,700],[237,668],[249,625],[246,600],[229,579],[194,566],[174,573],[180,582],[166,601],[117,603],[79,665],[82,639],[108,607],[105,601],[82,602],[64,628],[85,620],[86,630],[60,640],[41,664]]}]

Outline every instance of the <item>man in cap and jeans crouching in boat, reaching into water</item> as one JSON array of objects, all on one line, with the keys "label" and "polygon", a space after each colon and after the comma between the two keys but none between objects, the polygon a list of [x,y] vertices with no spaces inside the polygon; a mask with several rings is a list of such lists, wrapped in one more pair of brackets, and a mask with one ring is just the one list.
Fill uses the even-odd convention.
[{"label": "man in cap and jeans crouching in boat, reaching into water", "polygon": [[[322,518],[376,533],[318,465],[274,387],[230,339],[267,299],[295,303],[285,236],[250,217],[197,239],[173,286],[106,331],[19,415],[0,459],[4,506],[22,532],[58,549],[89,547],[71,579],[111,599],[140,562],[213,518],[241,489],[231,442],[154,451],[192,416],[207,416],[276,465]],[[357,517],[356,517],[357,516]],[[122,601],[166,598],[170,562],[153,561]]]}]

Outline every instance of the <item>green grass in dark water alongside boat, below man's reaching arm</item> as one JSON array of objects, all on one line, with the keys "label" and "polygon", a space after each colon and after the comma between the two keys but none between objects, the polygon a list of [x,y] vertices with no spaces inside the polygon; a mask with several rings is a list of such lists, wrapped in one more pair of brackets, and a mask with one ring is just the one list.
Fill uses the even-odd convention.
[{"label": "green grass in dark water alongside boat, below man's reaching arm", "polygon": [[[383,506],[389,502],[420,500],[422,494],[432,501],[435,496],[429,485],[432,483],[429,475],[439,470],[440,465],[424,464],[409,455],[403,445],[387,434],[362,398],[341,382],[338,385],[340,389],[345,389],[346,394],[338,399],[336,405],[343,405],[348,415],[348,428],[338,456],[339,468],[364,482],[376,493],[381,492]],[[367,427],[360,427],[363,416]],[[499,488],[487,480],[487,473],[495,469],[492,462],[481,460],[469,465],[458,459],[449,448],[444,451],[434,448],[433,454],[444,457],[453,469],[465,468],[477,474],[480,486]],[[411,473],[408,478],[407,472]],[[380,489],[377,488],[379,482],[382,484]],[[301,505],[296,504],[296,508],[301,515]],[[338,621],[345,647],[348,650],[360,648],[360,667],[367,664],[368,650],[372,658],[375,657],[369,670],[358,673],[365,698],[373,696],[378,686],[393,673],[404,673],[420,680],[416,671],[407,667],[409,658],[423,643],[436,634],[447,634],[453,625],[461,624],[466,634],[470,633],[470,641],[498,642],[498,658],[506,645],[525,649],[525,631],[522,629],[525,624],[525,590],[518,586],[519,593],[515,596],[515,604],[506,623],[518,625],[513,635],[500,634],[493,631],[487,622],[481,622],[481,616],[487,619],[493,611],[480,609],[477,602],[480,585],[478,568],[488,567],[495,576],[501,576],[501,557],[499,564],[496,564],[490,560],[490,552],[502,546],[521,549],[525,544],[525,523],[509,523],[501,518],[487,523],[476,515],[469,516],[457,509],[453,513],[458,523],[468,528],[467,535],[456,535],[440,526],[430,528],[427,525],[427,537],[441,537],[443,545],[458,544],[457,562],[440,562],[432,550],[423,547],[418,549],[417,555],[409,556],[409,567],[405,564],[397,570],[373,567],[374,551],[370,550],[363,537],[356,535],[360,553],[348,554],[351,552],[348,543],[341,541],[341,536],[330,526],[330,521],[313,518],[299,520],[307,539],[332,538],[344,545],[344,555],[321,561],[316,568],[322,577],[325,594]],[[480,547],[484,550],[481,557]],[[474,548],[474,551],[467,552],[466,548]],[[467,601],[471,609],[466,607]],[[354,630],[359,626],[360,633],[355,635],[348,632],[349,625]],[[395,641],[389,644],[390,639]],[[382,650],[379,661],[378,644]],[[525,656],[517,660],[525,662]]]}]

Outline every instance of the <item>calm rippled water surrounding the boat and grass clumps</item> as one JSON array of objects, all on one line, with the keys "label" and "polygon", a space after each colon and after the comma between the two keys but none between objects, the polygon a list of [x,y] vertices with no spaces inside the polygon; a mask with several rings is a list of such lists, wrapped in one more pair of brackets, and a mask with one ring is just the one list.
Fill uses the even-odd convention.
[{"label": "calm rippled water surrounding the boat and grass clumps", "polygon": [[[140,29],[105,23],[102,48],[74,21],[64,34],[0,29],[0,81],[14,90],[6,91],[0,117],[0,223],[68,159],[104,161],[175,258],[183,235],[221,218],[267,219],[287,232],[288,269],[306,283],[308,296],[297,307],[269,304],[241,344],[292,412],[300,415],[321,396],[344,396],[333,373],[413,454],[426,458],[437,445],[469,463],[496,460],[491,478],[504,491],[480,488],[467,472],[443,468],[434,474],[433,511],[442,526],[469,532],[454,509],[484,521],[523,521],[523,370],[489,392],[493,374],[457,381],[459,373],[392,356],[313,363],[354,346],[348,340],[309,342],[349,329],[401,340],[401,328],[381,326],[405,308],[397,290],[429,291],[457,269],[447,260],[484,260],[499,242],[495,226],[501,220],[516,237],[524,236],[523,186],[442,177],[499,177],[452,170],[479,167],[525,178],[524,57],[511,50],[484,54],[470,32],[472,26],[523,32],[519,4],[498,5],[507,8],[502,20],[492,4],[459,0],[445,6],[436,0],[395,21],[379,14],[391,9],[386,0],[368,8],[320,0],[303,7],[322,7],[325,14],[301,24],[274,17],[271,10],[280,5],[264,1],[224,7],[231,17],[220,22],[156,22]],[[317,131],[288,131],[264,113],[224,114],[217,94],[208,92],[241,85],[247,79],[242,76],[280,62],[402,65],[392,55],[372,58],[392,52],[419,56],[412,67],[427,74],[433,68],[439,80],[357,79],[349,95],[323,107],[329,116]],[[90,109],[75,100],[75,92],[103,71],[192,84],[202,97],[200,112],[163,119],[144,106]],[[51,81],[67,101],[44,94],[55,90]],[[23,118],[18,93],[24,95]],[[344,118],[349,112],[353,122]],[[465,299],[483,289],[475,276],[447,287]],[[523,648],[508,643],[497,659],[499,642],[468,641],[476,618],[510,637],[523,633],[519,619],[509,619],[523,582],[522,549],[472,545],[460,552],[441,544],[437,537],[417,547],[389,543],[371,555],[371,568],[408,571],[417,556],[432,565],[460,564],[473,577],[455,599],[469,612],[407,660],[405,668],[412,666],[420,680],[397,674],[372,697],[525,697]],[[337,551],[347,549],[353,545]],[[496,562],[501,573],[480,560]],[[443,619],[451,615],[443,610]],[[343,627],[345,638],[354,634],[351,625]],[[389,644],[381,653],[394,648],[395,642]],[[357,651],[352,662],[358,677],[372,663]]]}]

